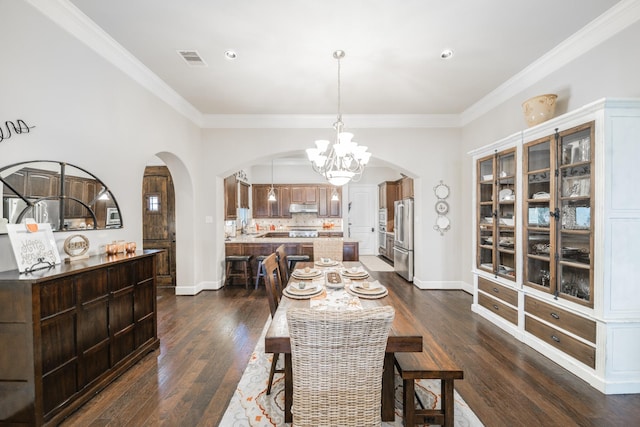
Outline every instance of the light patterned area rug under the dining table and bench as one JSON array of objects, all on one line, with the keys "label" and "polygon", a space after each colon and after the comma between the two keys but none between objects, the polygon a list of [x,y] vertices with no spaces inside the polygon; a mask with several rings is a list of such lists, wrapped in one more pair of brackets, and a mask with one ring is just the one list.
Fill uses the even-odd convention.
[{"label": "light patterned area rug under the dining table and bench", "polygon": [[[247,369],[242,374],[229,406],[220,421],[221,427],[272,427],[289,426],[284,422],[284,378],[276,374],[271,394],[267,395],[267,380],[272,354],[264,352],[264,335],[269,322],[262,331]],[[281,357],[281,359],[284,359]],[[281,360],[283,362],[283,360]],[[462,380],[464,381],[464,380]],[[396,417],[394,422],[383,422],[384,427],[402,426],[402,381],[396,376]],[[421,380],[416,384],[420,399],[427,407],[437,408],[440,402],[440,381]],[[454,391],[455,426],[482,427],[473,411]]]}]

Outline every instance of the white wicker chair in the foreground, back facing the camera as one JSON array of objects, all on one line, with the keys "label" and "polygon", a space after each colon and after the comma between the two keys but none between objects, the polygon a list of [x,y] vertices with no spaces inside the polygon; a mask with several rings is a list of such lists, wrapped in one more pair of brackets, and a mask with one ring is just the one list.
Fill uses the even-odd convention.
[{"label": "white wicker chair in the foreground, back facing the camera", "polygon": [[294,426],[380,426],[393,307],[287,311]]}]

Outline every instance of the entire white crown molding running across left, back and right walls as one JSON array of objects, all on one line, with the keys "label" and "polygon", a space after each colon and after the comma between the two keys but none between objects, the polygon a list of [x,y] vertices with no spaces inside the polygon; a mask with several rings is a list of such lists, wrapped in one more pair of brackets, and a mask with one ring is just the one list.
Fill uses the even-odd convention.
[{"label": "entire white crown molding running across left, back and right walls", "polygon": [[[202,114],[68,0],[27,0],[133,80],[200,128],[296,129],[330,127],[329,115]],[[622,0],[460,114],[354,114],[351,128],[462,127],[640,20],[640,1]]]}]

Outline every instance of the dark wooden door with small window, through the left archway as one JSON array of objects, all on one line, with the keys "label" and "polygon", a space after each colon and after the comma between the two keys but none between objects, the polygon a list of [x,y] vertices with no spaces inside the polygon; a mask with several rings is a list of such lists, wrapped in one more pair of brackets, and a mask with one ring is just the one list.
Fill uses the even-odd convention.
[{"label": "dark wooden door with small window, through the left archway", "polygon": [[143,248],[156,256],[158,286],[176,285],[176,215],[173,180],[166,166],[147,166],[142,183]]}]

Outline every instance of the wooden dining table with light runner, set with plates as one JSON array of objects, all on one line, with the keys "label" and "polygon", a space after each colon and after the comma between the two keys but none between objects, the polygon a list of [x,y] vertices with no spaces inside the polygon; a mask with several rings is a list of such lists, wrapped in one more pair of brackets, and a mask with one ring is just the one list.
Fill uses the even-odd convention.
[{"label": "wooden dining table with light runner, set with plates", "polygon": [[[348,269],[358,269],[366,271],[364,266],[359,262],[340,262],[336,266],[322,267],[313,262],[297,263],[296,268],[303,270],[305,267],[309,269],[319,269],[323,271],[323,280],[327,280],[329,274],[339,274],[340,271]],[[292,272],[293,273],[293,272]],[[367,271],[371,275],[371,272]],[[291,275],[289,283],[299,281],[294,274]],[[368,278],[370,281],[376,280],[372,275]],[[379,280],[379,279],[378,279]],[[345,280],[350,282],[349,279]],[[379,281],[384,286],[383,281]],[[387,293],[380,298],[356,298],[357,303],[362,308],[379,307],[390,305],[395,309],[395,317],[389,330],[387,339],[387,347],[385,350],[384,368],[382,374],[382,402],[381,416],[383,421],[394,421],[395,419],[395,385],[394,385],[394,354],[396,352],[419,352],[422,351],[422,335],[416,329],[417,320],[413,314],[405,309],[404,304],[394,296],[393,291],[388,286]],[[340,290],[340,289],[337,289]],[[289,339],[289,328],[287,325],[287,311],[291,308],[309,308],[322,303],[322,298],[327,298],[332,292],[336,292],[334,286],[325,286],[325,290],[317,296],[310,298],[290,298],[286,292],[280,299],[278,308],[271,320],[271,324],[265,335],[265,352],[284,354],[284,418],[285,422],[292,422],[291,405],[293,403],[293,379],[291,364],[291,342]],[[346,292],[345,292],[346,293]],[[291,294],[290,294],[291,295]],[[326,308],[324,309],[331,309]]]}]

